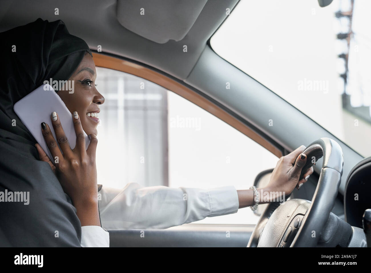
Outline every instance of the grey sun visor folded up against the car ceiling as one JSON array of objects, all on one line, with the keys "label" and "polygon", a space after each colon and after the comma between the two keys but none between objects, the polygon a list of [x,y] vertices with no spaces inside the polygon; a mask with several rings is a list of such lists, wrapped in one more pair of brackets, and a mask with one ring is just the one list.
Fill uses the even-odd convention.
[{"label": "grey sun visor folded up against the car ceiling", "polygon": [[118,0],[116,17],[126,29],[156,43],[180,41],[207,0]]}]

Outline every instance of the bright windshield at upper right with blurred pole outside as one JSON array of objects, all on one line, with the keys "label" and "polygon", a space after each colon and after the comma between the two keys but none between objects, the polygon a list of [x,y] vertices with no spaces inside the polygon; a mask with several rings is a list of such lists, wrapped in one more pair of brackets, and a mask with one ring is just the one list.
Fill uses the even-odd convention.
[{"label": "bright windshield at upper right with blurred pole outside", "polygon": [[213,50],[362,156],[371,155],[371,1],[240,1]]}]

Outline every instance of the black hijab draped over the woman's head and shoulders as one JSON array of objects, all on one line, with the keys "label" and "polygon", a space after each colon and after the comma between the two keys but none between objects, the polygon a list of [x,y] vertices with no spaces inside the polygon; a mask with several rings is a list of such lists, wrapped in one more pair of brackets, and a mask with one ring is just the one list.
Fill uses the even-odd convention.
[{"label": "black hijab draped over the woman's head and shoulders", "polygon": [[76,209],[49,164],[38,160],[36,140],[13,106],[44,80],[68,80],[91,51],[61,20],[39,18],[0,40],[0,191],[30,192],[29,205],[0,202],[0,246],[79,246]]}]

